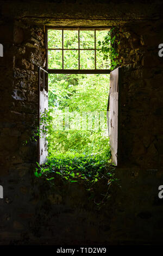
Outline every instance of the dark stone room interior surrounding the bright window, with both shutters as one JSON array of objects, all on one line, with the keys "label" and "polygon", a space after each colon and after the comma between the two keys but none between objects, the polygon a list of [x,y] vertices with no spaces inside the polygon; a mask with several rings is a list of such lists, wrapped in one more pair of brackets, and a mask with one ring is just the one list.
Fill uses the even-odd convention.
[{"label": "dark stone room interior surrounding the bright window, with both shutters", "polygon": [[[1,245],[162,243],[162,8],[161,0],[0,1]],[[48,68],[48,28],[114,28],[120,42],[116,69],[72,73],[110,74],[110,111],[116,117],[110,168],[118,184],[101,179],[86,190],[84,179],[58,176],[52,185],[34,175],[36,162],[45,163],[48,154],[41,154],[45,141],[29,139],[38,125],[41,81],[48,90],[49,74],[70,74]]]}]

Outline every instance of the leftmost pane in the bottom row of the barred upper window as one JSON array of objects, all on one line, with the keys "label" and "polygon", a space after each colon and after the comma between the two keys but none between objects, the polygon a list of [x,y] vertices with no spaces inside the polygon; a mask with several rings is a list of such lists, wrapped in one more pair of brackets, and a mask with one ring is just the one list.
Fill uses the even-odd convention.
[{"label": "leftmost pane in the bottom row of the barred upper window", "polygon": [[62,69],[61,50],[48,50],[48,69]]}]

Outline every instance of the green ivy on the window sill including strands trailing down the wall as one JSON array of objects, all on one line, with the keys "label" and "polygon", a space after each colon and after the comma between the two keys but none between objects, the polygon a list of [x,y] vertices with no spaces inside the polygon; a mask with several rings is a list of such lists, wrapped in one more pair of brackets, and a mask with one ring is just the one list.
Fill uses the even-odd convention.
[{"label": "green ivy on the window sill including strands trailing down the wall", "polygon": [[[97,208],[101,208],[111,196],[110,188],[120,186],[115,177],[115,168],[108,162],[108,157],[101,154],[55,154],[48,158],[46,164],[36,168],[35,176],[46,179],[51,186],[60,184],[60,181],[73,184],[74,182],[84,182],[85,188],[90,192],[88,199],[93,199]],[[96,183],[104,182],[103,191],[99,194],[98,203],[95,201]],[[103,187],[103,185],[101,187]],[[121,186],[120,186],[121,187]]]}]

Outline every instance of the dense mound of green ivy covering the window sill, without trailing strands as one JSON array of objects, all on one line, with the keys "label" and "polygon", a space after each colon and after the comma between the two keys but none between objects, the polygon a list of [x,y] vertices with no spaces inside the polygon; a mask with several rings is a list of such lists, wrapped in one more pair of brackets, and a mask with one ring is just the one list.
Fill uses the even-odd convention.
[{"label": "dense mound of green ivy covering the window sill, without trailing strands", "polygon": [[[37,163],[39,166],[39,164]],[[45,175],[48,180],[52,180],[56,175],[68,182],[77,182],[84,179],[97,182],[100,178],[105,177],[108,185],[116,181],[113,172],[108,172],[108,157],[100,154],[72,154],[66,155],[58,153],[49,157],[46,164],[39,166],[40,172],[36,168],[35,175],[39,178]],[[114,170],[114,169],[112,169]]]}]

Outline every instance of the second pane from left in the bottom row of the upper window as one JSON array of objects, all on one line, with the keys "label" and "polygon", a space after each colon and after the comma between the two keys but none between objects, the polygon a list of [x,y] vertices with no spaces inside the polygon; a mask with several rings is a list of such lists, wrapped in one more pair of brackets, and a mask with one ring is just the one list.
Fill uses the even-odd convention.
[{"label": "second pane from left in the bottom row of the upper window", "polygon": [[78,69],[78,50],[64,51],[64,69]]}]

